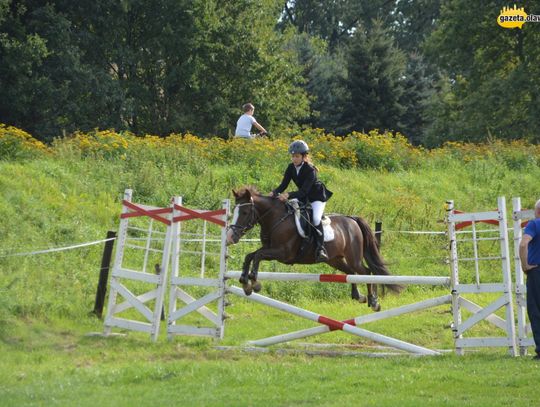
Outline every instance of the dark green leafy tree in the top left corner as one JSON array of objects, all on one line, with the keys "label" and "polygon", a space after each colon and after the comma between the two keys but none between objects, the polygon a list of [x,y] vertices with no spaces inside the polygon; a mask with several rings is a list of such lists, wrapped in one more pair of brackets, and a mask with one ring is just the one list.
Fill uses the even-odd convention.
[{"label": "dark green leafy tree in the top left corner", "polygon": [[[4,3],[6,4],[6,3]],[[81,63],[70,21],[49,3],[13,1],[0,20],[0,117],[50,140],[95,123],[106,85]]]}]

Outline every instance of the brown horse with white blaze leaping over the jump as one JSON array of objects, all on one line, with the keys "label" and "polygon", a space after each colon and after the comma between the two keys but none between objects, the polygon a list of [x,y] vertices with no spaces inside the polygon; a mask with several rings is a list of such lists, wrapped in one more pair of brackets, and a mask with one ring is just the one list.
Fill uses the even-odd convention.
[{"label": "brown horse with white blaze leaping over the jump", "polygon": [[[246,295],[259,292],[262,285],[257,281],[262,260],[277,260],[284,264],[314,264],[317,262],[315,247],[303,248],[303,239],[297,232],[294,215],[279,199],[261,195],[255,187],[233,189],[235,208],[227,230],[227,245],[236,244],[255,225],[260,226],[262,247],[246,255],[239,282]],[[390,275],[380,253],[375,235],[369,224],[356,216],[331,215],[334,240],[325,242],[328,265],[345,274]],[[363,264],[367,263],[367,267]],[[385,284],[386,288],[399,293],[403,286]],[[383,286],[384,288],[384,286]],[[380,311],[375,284],[367,284],[368,306]],[[360,303],[366,297],[351,285],[351,298]]]}]

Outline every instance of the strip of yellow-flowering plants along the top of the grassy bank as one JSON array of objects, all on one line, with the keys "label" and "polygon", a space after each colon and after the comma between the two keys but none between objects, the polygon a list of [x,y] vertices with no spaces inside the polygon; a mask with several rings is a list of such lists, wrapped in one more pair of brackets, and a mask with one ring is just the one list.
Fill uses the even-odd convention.
[{"label": "strip of yellow-flowering plants along the top of the grassy bank", "polygon": [[3,159],[35,157],[53,151],[59,157],[94,157],[105,160],[124,160],[128,168],[144,163],[156,164],[156,169],[169,167],[191,173],[204,171],[206,163],[242,164],[254,172],[265,168],[281,168],[289,162],[287,147],[293,139],[305,140],[316,165],[340,168],[365,168],[399,171],[420,165],[446,166],[477,163],[498,163],[509,169],[538,165],[540,147],[525,141],[496,140],[485,144],[447,142],[441,148],[425,150],[411,145],[400,133],[353,132],[335,136],[323,129],[304,128],[286,131],[286,136],[273,139],[245,140],[233,138],[200,138],[191,133],[135,136],[114,130],[77,132],[56,139],[49,150],[29,134],[15,127],[0,124],[0,154]]}]

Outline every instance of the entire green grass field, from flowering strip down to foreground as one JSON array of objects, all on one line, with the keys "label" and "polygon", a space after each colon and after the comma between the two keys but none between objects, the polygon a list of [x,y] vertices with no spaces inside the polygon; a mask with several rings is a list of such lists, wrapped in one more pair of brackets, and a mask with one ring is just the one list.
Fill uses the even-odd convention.
[{"label": "entire green grass field, from flowering strip down to foreground", "polygon": [[[157,153],[156,153],[157,154]],[[146,159],[82,157],[70,151],[33,159],[0,160],[0,405],[540,405],[540,363],[511,358],[506,350],[477,350],[464,357],[373,358],[374,344],[333,332],[310,340],[344,346],[354,354],[315,356],[301,346],[250,353],[238,347],[314,324],[233,299],[225,339],[161,335],[88,336],[101,332],[93,308],[102,246],[35,256],[13,254],[99,240],[116,230],[120,200],[133,188],[137,202],[163,206],[182,195],[188,207],[215,209],[230,190],[255,184],[268,191],[279,181],[275,162],[250,157],[234,163],[159,155]],[[395,171],[322,164],[321,176],[335,195],[328,212],[382,220],[383,255],[394,274],[447,276],[444,236],[406,235],[404,230],[442,231],[444,202],[466,211],[493,209],[497,196],[538,198],[540,169],[500,157],[466,162],[450,156],[426,159]],[[256,231],[248,237],[255,237]],[[231,248],[238,269],[246,246]],[[497,243],[486,243],[486,253]],[[192,267],[196,270],[197,261]],[[209,263],[212,266],[212,262]],[[274,263],[263,270],[292,271]],[[327,266],[295,267],[331,272]],[[497,278],[499,266],[482,269]],[[463,271],[471,279],[472,270]],[[336,319],[370,312],[349,299],[341,285],[268,283],[264,292]],[[410,286],[382,299],[383,309],[446,294]],[[489,296],[480,298],[487,303]],[[477,301],[477,302],[478,302]],[[436,349],[451,349],[449,307],[366,325],[386,335]],[[479,335],[492,328],[481,323]],[[312,348],[320,350],[321,348]],[[340,348],[342,349],[342,348]],[[331,348],[330,350],[333,350]]]}]

